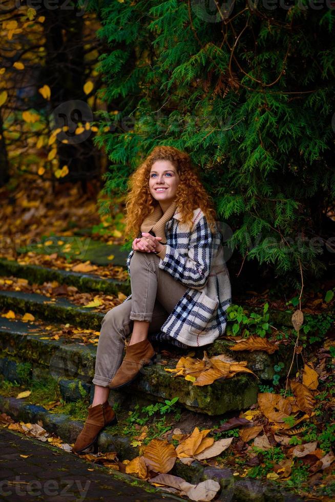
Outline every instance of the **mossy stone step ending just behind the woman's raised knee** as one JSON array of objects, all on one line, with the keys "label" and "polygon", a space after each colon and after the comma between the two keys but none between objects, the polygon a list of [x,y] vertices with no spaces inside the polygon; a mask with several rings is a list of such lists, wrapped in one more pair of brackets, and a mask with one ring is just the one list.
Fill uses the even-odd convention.
[{"label": "mossy stone step ending just behind the woman's raised knee", "polygon": [[21,264],[15,260],[0,258],[0,276],[14,276],[27,279],[29,284],[57,281],[59,284],[75,286],[79,291],[101,291],[116,295],[121,291],[128,296],[131,292],[130,281],[104,279],[94,274],[82,274],[70,270],[48,268],[40,265]]}]

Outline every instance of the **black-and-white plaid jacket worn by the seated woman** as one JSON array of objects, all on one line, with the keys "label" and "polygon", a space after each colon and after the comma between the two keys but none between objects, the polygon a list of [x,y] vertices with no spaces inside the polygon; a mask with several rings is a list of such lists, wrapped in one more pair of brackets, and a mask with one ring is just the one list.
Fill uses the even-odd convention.
[{"label": "black-and-white plaid jacket worn by the seated woman", "polygon": [[[193,214],[191,231],[180,223],[178,207],[165,224],[166,252],[158,266],[187,286],[187,290],[161,331],[186,345],[200,347],[212,343],[224,333],[232,291],[221,233],[211,233],[200,208]],[[127,259],[129,275],[133,254],[132,249]]]}]

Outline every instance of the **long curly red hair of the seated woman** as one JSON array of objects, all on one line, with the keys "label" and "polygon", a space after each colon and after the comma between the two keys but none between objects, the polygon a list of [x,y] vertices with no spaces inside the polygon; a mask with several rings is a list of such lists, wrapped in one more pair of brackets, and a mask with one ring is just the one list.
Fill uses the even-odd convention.
[{"label": "long curly red hair of the seated woman", "polygon": [[156,160],[170,160],[179,175],[180,183],[175,200],[180,210],[181,223],[187,223],[191,228],[193,211],[200,207],[214,233],[216,211],[212,197],[200,182],[189,154],[168,146],[155,147],[129,179],[129,192],[125,199],[125,233],[131,239],[137,237],[141,223],[159,203],[149,189],[150,170]]}]

